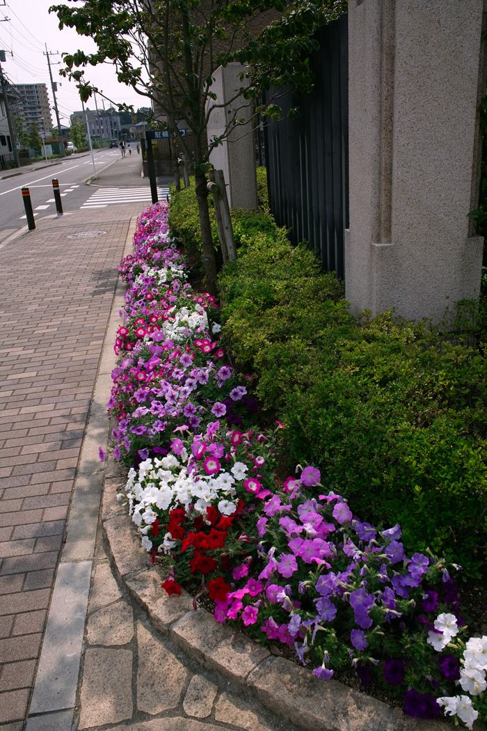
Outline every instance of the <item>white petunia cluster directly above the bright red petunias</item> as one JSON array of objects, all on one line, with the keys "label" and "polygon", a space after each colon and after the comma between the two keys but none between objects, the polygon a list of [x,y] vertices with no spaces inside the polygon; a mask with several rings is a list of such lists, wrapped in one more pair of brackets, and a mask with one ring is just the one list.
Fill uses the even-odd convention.
[{"label": "white petunia cluster directly above the bright red petunias", "polygon": [[[180,461],[175,455],[169,454],[162,459],[146,459],[139,464],[138,473],[134,468],[129,470],[129,480],[126,484],[126,497],[129,500],[129,515],[142,534],[142,546],[152,550],[152,542],[147,537],[150,526],[156,520],[159,510],[169,511],[183,505],[185,510],[196,517],[204,515],[207,507],[212,504],[218,506],[222,515],[232,515],[237,510],[237,501],[234,501],[236,491],[235,480],[243,479],[247,467],[237,462],[231,473],[220,471],[219,474],[188,474],[188,468],[183,463],[188,461],[188,452],[183,448]],[[243,469],[242,469],[243,468]],[[134,504],[136,507],[134,507]],[[170,553],[175,545],[169,533],[164,538],[162,550]]]}]

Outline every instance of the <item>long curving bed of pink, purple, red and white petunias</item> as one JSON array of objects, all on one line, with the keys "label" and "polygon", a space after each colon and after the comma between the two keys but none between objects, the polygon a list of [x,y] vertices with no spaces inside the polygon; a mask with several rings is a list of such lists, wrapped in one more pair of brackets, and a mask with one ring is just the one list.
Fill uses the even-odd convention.
[{"label": "long curving bed of pink, purple, red and white petunias", "polygon": [[109,402],[115,458],[130,468],[120,499],[153,561],[169,557],[164,589],[197,586],[217,621],[289,645],[323,680],[352,667],[411,716],[444,710],[469,728],[485,718],[487,638],[467,640],[450,576],[460,567],[407,556],[399,525],[359,520],[314,466],[277,485],[284,425],[259,431],[252,379],[225,363],[218,311],[186,281],[166,205],[141,216],[120,271],[129,289]]}]

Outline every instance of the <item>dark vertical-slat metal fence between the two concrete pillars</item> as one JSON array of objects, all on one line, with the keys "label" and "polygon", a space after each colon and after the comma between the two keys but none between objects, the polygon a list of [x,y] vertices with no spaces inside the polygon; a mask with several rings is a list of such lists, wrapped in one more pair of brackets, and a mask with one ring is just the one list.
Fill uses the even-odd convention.
[{"label": "dark vertical-slat metal fence between the two concrete pillars", "polygon": [[[310,64],[315,91],[288,91],[275,103],[280,121],[265,125],[269,205],[291,241],[307,240],[323,270],[345,276],[348,228],[348,16],[316,35],[320,50]],[[266,99],[272,92],[266,95]],[[299,118],[285,115],[299,106]]]}]

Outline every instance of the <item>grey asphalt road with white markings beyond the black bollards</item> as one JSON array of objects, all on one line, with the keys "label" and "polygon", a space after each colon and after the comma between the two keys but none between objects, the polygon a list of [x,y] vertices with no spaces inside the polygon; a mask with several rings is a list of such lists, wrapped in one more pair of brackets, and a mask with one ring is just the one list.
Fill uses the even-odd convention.
[{"label": "grey asphalt road with white markings beyond the black bollards", "polygon": [[[96,150],[93,153],[96,172],[120,159],[120,151],[115,148]],[[129,162],[128,156],[126,157]],[[134,154],[131,156],[135,162]],[[140,166],[140,156],[138,156]],[[120,161],[121,164],[122,161]],[[123,160],[125,164],[125,159]],[[16,177],[0,180],[0,230],[20,228],[26,225],[26,216],[21,189],[26,186],[31,192],[34,216],[41,218],[55,214],[53,196],[53,178],[58,178],[63,210],[77,211],[93,194],[93,186],[85,185],[85,181],[93,175],[93,164],[90,154],[70,155],[61,164],[46,167]],[[119,182],[123,185],[123,182]],[[132,184],[132,183],[129,183]],[[148,181],[146,181],[148,184]]]}]

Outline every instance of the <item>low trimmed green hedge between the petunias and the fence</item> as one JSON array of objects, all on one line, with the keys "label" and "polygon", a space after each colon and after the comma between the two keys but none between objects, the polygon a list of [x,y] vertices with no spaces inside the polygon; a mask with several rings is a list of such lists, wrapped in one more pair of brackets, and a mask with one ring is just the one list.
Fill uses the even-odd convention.
[{"label": "low trimmed green hedge between the petunias and the fence", "polygon": [[[184,213],[173,198],[178,231],[196,210],[183,195]],[[477,575],[487,543],[483,346],[391,313],[357,320],[342,283],[270,216],[237,211],[234,227],[239,257],[219,277],[223,338],[287,425],[291,460],[318,466],[323,487],[362,518],[400,523],[408,552],[429,547]]]}]

